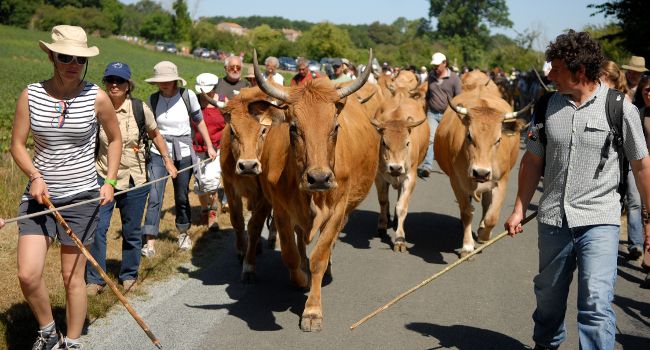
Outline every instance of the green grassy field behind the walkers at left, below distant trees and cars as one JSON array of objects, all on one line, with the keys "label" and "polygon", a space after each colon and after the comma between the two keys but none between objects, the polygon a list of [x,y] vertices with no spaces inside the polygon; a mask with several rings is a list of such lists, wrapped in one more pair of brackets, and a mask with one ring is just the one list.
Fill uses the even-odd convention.
[{"label": "green grassy field behind the walkers at left, below distant trees and cars", "polygon": [[[52,75],[52,64],[39,48],[38,41],[52,42],[49,32],[25,30],[0,25],[0,152],[6,152],[11,138],[16,100],[27,84],[45,80]],[[86,80],[101,84],[106,65],[113,61],[126,62],[131,67],[136,84],[134,96],[144,99],[156,91],[156,87],[144,82],[153,76],[153,66],[163,60],[174,62],[179,75],[187,80],[187,87],[194,89],[196,76],[200,73],[224,75],[221,62],[200,60],[194,57],[154,52],[113,38],[89,37],[89,45],[99,48],[99,56],[91,58]],[[245,74],[245,70],[244,70]],[[101,85],[100,85],[101,86]]]}]

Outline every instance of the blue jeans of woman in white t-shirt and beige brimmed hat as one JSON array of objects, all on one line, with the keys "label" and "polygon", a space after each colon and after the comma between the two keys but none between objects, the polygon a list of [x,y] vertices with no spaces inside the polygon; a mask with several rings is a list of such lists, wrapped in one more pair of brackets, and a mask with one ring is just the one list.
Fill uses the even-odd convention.
[{"label": "blue jeans of woman in white t-shirt and beige brimmed hat", "polygon": [[[187,168],[191,165],[192,157],[190,156],[174,161],[174,166],[176,166],[176,169],[178,170]],[[149,173],[149,181],[160,179],[161,177],[168,175],[161,156],[151,153],[151,161],[147,164],[147,172]],[[176,229],[180,232],[187,231],[191,225],[192,208],[190,207],[190,199],[188,196],[191,177],[192,172],[188,170],[182,173],[179,172],[176,178],[172,179],[172,183],[174,184]],[[159,181],[151,185],[149,203],[147,204],[147,216],[144,219],[142,234],[156,237],[158,236],[158,233],[160,233],[160,210],[162,209],[166,184],[167,180]]]}]

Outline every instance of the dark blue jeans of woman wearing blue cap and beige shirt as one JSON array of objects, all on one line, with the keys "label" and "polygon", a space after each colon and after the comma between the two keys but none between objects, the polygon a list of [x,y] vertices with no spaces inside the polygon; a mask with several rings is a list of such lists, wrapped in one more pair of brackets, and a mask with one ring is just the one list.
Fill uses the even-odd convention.
[{"label": "dark blue jeans of woman wearing blue cap and beige shirt", "polygon": [[[104,178],[97,176],[100,186],[104,184]],[[131,181],[129,187],[135,187]],[[115,196],[115,200],[99,208],[99,224],[95,241],[90,245],[90,253],[97,260],[99,266],[106,271],[106,233],[111,224],[113,208],[120,209],[122,219],[122,264],[118,279],[121,282],[135,280],[138,278],[140,267],[140,248],[142,248],[142,215],[144,205],[147,202],[149,186]],[[86,282],[104,285],[104,279],[99,272],[90,264],[86,263]]]}]

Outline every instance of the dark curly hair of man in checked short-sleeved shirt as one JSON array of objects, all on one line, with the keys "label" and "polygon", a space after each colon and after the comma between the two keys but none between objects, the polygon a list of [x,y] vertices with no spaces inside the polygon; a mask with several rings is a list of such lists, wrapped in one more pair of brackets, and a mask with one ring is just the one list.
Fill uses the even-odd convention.
[{"label": "dark curly hair of man in checked short-sleeved shirt", "polygon": [[546,49],[546,60],[564,60],[571,73],[577,73],[580,66],[585,67],[587,79],[598,80],[600,67],[605,62],[605,56],[600,44],[586,32],[576,32],[573,29],[567,34],[558,35]]}]

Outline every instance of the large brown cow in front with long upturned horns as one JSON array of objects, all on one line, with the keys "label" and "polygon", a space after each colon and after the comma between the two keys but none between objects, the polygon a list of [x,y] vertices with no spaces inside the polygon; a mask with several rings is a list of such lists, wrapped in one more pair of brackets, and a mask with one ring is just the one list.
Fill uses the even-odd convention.
[{"label": "large brown cow in front with long upturned horns", "polygon": [[305,245],[320,232],[309,260],[311,288],[300,322],[303,331],[319,331],[321,284],[332,247],[377,171],[379,135],[359,101],[346,98],[366,82],[370,70],[339,89],[327,79],[283,88],[264,81],[256,52],[253,62],[260,88],[288,105],[287,123],[273,127],[265,142],[261,164],[267,170],[261,182],[273,205],[282,259],[299,286],[308,285],[300,268],[307,263]]}]

